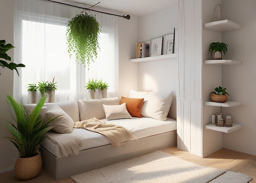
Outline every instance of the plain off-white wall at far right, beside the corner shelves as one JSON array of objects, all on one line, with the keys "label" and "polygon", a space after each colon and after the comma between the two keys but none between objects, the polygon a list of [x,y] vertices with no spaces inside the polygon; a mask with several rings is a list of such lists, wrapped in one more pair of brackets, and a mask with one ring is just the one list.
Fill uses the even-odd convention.
[{"label": "plain off-white wall at far right, beside the corner shelves", "polygon": [[241,65],[222,66],[222,82],[229,100],[239,107],[224,108],[243,128],[223,134],[223,147],[256,155],[256,1],[222,0],[224,18],[242,26],[241,30],[222,33],[229,45],[224,58],[242,61]]}]

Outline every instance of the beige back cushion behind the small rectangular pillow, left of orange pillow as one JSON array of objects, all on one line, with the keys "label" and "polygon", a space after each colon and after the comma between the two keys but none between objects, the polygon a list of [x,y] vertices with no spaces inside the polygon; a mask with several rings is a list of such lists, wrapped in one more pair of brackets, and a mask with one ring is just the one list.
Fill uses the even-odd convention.
[{"label": "beige back cushion behind the small rectangular pillow, left of orange pillow", "polygon": [[119,105],[119,98],[103,98],[93,100],[79,100],[79,115],[80,121],[91,118],[104,119],[106,118],[102,104],[104,105]]}]

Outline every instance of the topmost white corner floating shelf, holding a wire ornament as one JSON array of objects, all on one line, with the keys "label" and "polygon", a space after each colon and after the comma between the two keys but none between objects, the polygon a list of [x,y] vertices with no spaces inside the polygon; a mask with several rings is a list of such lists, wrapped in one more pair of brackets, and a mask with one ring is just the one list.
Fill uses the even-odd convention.
[{"label": "topmost white corner floating shelf, holding a wire ornament", "polygon": [[203,27],[204,29],[210,29],[216,32],[228,32],[241,29],[241,25],[230,20],[219,20],[215,22],[205,23]]}]

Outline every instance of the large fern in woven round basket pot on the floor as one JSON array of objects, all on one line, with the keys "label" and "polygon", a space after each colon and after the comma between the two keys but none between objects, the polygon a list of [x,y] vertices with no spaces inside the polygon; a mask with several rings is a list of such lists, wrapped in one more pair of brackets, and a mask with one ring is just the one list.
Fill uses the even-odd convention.
[{"label": "large fern in woven round basket pot on the floor", "polygon": [[42,168],[39,146],[46,138],[45,133],[53,128],[52,121],[56,119],[56,117],[50,118],[49,121],[43,123],[40,112],[46,98],[47,96],[40,98],[36,107],[31,112],[27,112],[23,105],[7,95],[7,103],[15,114],[13,117],[15,123],[8,121],[7,129],[13,137],[4,138],[8,138],[20,152],[20,157],[15,162],[14,172],[21,180],[34,178]]}]

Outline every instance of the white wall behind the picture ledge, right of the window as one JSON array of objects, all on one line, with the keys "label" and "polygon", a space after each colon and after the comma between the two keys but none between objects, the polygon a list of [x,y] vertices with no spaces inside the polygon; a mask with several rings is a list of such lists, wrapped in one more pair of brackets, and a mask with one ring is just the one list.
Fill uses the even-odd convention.
[{"label": "white wall behind the picture ledge, right of the window", "polygon": [[[178,6],[175,5],[157,13],[139,17],[138,42],[150,40],[173,33],[178,27]],[[176,31],[177,36],[177,31]],[[177,38],[177,37],[176,37]],[[138,90],[139,91],[177,91],[178,87],[178,60],[155,60],[138,63]],[[174,96],[170,115],[176,119],[176,95]]]}]

